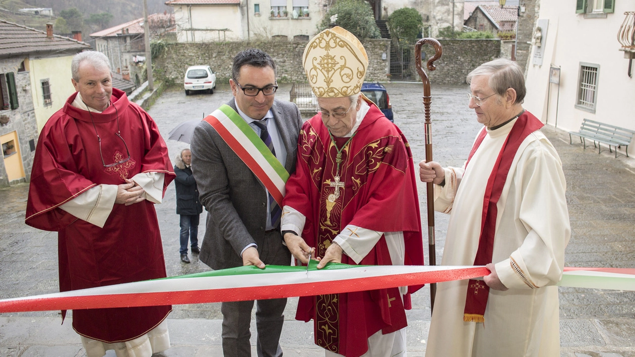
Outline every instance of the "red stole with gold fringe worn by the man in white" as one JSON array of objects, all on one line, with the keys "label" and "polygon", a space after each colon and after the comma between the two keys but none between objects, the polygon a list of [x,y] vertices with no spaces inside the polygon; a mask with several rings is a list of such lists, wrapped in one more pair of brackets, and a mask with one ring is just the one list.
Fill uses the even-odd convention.
[{"label": "red stole with gold fringe worn by the man in white", "polygon": [[[505,138],[498,158],[494,163],[494,167],[491,170],[490,178],[487,181],[487,187],[485,188],[485,197],[483,198],[483,216],[481,217],[481,235],[479,236],[478,250],[476,251],[476,257],[474,258],[475,266],[485,266],[491,263],[491,257],[494,247],[494,235],[496,228],[497,217],[497,203],[500,195],[502,194],[505,181],[507,180],[507,174],[511,169],[512,161],[516,156],[518,147],[531,133],[539,130],[544,126],[538,118],[533,116],[528,111],[523,112],[521,116],[516,120],[512,130]],[[487,130],[483,128],[474,142],[472,151],[470,152],[467,162],[465,163],[465,170],[467,171],[467,165],[470,159],[474,155],[474,152],[478,149],[481,142],[485,138]],[[487,306],[487,299],[490,295],[490,286],[487,286],[483,281],[470,280],[467,283],[467,297],[465,299],[465,310],[463,320],[466,322],[485,322],[485,307]]]}]

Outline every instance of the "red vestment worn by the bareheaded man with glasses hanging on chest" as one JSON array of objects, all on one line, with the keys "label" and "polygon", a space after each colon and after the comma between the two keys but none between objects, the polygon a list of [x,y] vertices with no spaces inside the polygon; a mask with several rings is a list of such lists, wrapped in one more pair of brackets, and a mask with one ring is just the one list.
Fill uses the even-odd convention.
[{"label": "red vestment worn by the bareheaded man with glasses hanging on chest", "polygon": [[[175,177],[156,123],[128,102],[123,91],[113,88],[112,104],[104,112],[90,115],[71,105],[75,97],[69,97],[40,133],[26,223],[58,232],[61,292],[164,278],[163,246],[153,203],[114,205],[103,228],[59,208],[93,186],[124,184],[124,179],[138,173],[164,173],[163,193]],[[117,119],[123,140],[116,135]],[[102,140],[101,152],[95,130]],[[109,165],[127,158],[128,151],[128,161],[104,167],[102,156]],[[91,339],[120,342],[152,330],[170,311],[171,306],[75,310],[73,328]]]}]

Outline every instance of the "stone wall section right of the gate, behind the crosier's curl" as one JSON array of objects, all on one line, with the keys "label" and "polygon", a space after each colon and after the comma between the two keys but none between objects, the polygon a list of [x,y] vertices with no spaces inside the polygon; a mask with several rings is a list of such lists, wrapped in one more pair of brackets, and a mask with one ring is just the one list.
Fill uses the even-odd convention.
[{"label": "stone wall section right of the gate, behind the crosier's curl", "polygon": [[[500,57],[499,39],[441,39],[441,58],[434,62],[436,70],[427,71],[431,84],[457,85],[465,84],[465,76],[485,62]],[[432,46],[423,46],[422,67],[427,59],[434,55]],[[414,56],[412,57],[414,60]],[[415,65],[411,65],[413,78],[420,81]]]}]

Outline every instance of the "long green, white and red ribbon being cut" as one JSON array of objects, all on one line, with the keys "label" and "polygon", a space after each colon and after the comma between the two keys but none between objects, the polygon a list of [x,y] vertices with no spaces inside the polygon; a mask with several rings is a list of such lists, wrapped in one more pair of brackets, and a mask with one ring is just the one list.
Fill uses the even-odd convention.
[{"label": "long green, white and red ribbon being cut", "polygon": [[[0,313],[201,304],[375,290],[479,278],[483,266],[237,267],[70,292],[0,300]],[[565,268],[559,286],[635,291],[635,269]]]}]

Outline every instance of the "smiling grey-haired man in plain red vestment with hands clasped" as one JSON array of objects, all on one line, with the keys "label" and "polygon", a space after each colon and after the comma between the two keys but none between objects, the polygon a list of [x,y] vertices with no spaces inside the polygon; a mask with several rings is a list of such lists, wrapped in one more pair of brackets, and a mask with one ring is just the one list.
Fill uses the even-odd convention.
[{"label": "smiling grey-haired man in plain red vestment with hands clasped", "polygon": [[[112,88],[105,55],[72,60],[77,93],[44,125],[26,223],[58,232],[60,291],[164,278],[155,203],[174,179],[156,123]],[[150,356],[170,347],[171,306],[78,309],[87,356]],[[65,311],[64,311],[65,313]]]}]

